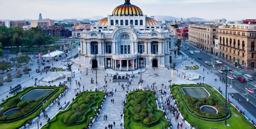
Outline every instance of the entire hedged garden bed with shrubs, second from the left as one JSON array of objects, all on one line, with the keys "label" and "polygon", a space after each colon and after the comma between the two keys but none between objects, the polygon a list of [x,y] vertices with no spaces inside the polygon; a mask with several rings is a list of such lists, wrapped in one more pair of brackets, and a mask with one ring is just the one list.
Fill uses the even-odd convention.
[{"label": "entire hedged garden bed with shrubs, second from the left", "polygon": [[99,108],[103,96],[104,92],[101,91],[81,92],[67,110],[60,111],[42,128],[85,128],[89,124],[90,117],[93,116],[92,107]]}]

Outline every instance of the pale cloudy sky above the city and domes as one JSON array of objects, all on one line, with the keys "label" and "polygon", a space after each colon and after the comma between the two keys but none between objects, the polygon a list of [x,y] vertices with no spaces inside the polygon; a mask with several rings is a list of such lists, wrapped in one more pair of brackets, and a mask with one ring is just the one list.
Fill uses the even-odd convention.
[{"label": "pale cloudy sky above the city and domes", "polygon": [[[131,0],[147,16],[256,19],[256,0]],[[0,19],[69,19],[107,16],[124,0],[0,0]]]}]

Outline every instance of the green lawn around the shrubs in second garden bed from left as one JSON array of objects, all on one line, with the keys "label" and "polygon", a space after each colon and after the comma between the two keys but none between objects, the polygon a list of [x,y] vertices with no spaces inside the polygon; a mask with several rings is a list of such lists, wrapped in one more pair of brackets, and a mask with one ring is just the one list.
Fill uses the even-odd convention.
[{"label": "green lawn around the shrubs in second garden bed from left", "polygon": [[[90,112],[89,114],[87,114],[86,116],[83,115],[83,119],[82,121],[78,121],[78,122],[82,122],[82,123],[74,123],[70,126],[65,126],[63,123],[62,123],[62,117],[65,115],[65,114],[70,114],[74,111],[74,107],[78,104],[79,100],[83,98],[83,94],[84,93],[88,93],[89,95],[90,94],[97,94],[98,98],[94,99],[95,100],[95,103],[93,103],[91,106],[90,106]],[[54,118],[48,122],[45,126],[42,127],[42,129],[45,129],[45,128],[67,128],[67,129],[80,129],[80,128],[85,128],[86,126],[88,126],[89,124],[89,118],[93,116],[92,114],[92,110],[91,108],[92,107],[95,107],[95,106],[100,106],[100,103],[102,102],[102,97],[104,96],[104,92],[101,92],[101,91],[83,91],[81,92],[81,94],[79,94],[75,100],[70,104],[70,106],[68,107],[67,110],[65,111],[60,111],[56,116],[54,116]],[[95,108],[96,110],[98,110],[98,108]]]}]

